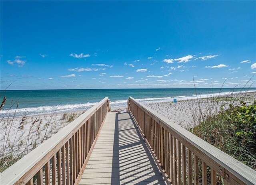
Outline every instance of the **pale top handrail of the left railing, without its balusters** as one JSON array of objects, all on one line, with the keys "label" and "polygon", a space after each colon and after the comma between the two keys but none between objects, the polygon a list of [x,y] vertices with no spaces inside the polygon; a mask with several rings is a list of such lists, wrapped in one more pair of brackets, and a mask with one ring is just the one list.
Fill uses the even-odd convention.
[{"label": "pale top handrail of the left railing, without its balusters", "polygon": [[[98,110],[101,111],[100,120],[103,121],[103,118],[106,116],[108,111],[108,105],[110,105],[110,103],[108,102],[108,97],[106,97],[79,116],[76,120],[62,128],[62,130],[50,139],[46,140],[35,150],[32,150],[32,152],[25,155],[14,165],[6,169],[0,174],[1,184],[26,184],[38,173],[38,171],[40,171],[40,169],[42,169],[42,167],[58,152],[58,150],[60,150],[75,133],[77,133],[84,122],[90,119]],[[82,165],[82,162],[80,165]]]}]

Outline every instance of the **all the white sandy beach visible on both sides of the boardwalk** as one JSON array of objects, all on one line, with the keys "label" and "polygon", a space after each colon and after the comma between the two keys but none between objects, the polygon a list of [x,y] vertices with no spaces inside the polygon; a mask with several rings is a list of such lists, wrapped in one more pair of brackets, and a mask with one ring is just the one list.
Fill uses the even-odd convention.
[{"label": "all the white sandy beach visible on both sides of the boardwalk", "polygon": [[[256,92],[251,92],[211,98],[178,100],[176,104],[172,102],[155,102],[146,105],[174,123],[184,128],[190,128],[203,120],[202,114],[206,118],[218,112],[222,104],[224,104],[224,108],[228,108],[230,103],[239,104],[242,99],[245,102],[252,103],[255,97]],[[85,110],[14,118],[5,117],[0,125],[0,155],[9,152],[28,153],[83,112]],[[126,107],[112,108],[112,112],[126,112]],[[3,150],[3,148],[5,149]]]}]

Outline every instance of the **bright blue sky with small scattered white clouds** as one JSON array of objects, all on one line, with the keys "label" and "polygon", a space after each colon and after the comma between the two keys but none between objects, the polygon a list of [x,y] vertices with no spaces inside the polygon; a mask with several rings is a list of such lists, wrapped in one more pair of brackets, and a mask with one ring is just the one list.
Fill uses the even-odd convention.
[{"label": "bright blue sky with small scattered white clouds", "polygon": [[1,89],[186,88],[193,76],[196,87],[242,87],[256,79],[255,10],[256,1],[1,1]]}]

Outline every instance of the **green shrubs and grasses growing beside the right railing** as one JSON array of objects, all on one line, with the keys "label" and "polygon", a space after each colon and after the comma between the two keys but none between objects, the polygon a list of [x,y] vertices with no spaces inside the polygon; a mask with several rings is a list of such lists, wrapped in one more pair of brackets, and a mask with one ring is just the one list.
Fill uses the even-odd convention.
[{"label": "green shrubs and grasses growing beside the right railing", "polygon": [[256,170],[256,101],[229,105],[190,131]]}]

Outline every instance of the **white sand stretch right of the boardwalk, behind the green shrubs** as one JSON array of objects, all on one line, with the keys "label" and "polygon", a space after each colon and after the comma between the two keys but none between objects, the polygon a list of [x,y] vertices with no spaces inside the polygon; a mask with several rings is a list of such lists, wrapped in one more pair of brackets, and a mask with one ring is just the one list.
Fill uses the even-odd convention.
[{"label": "white sand stretch right of the boardwalk, behind the green shrubs", "polygon": [[228,108],[229,104],[237,105],[241,100],[248,104],[254,102],[256,100],[256,92],[182,100],[171,105],[171,102],[150,103],[147,106],[183,128],[191,128],[203,121],[201,115],[207,118],[218,112],[222,105],[224,105],[224,108]]}]

